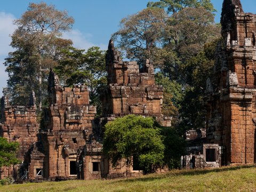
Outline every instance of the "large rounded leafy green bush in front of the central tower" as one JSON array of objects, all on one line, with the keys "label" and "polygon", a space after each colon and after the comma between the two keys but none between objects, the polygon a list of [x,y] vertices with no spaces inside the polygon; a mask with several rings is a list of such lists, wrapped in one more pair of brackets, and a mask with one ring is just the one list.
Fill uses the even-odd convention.
[{"label": "large rounded leafy green bush in front of the central tower", "polygon": [[105,125],[103,151],[116,166],[121,159],[132,165],[132,157],[144,173],[168,165],[180,166],[186,142],[172,127],[161,127],[152,117],[127,115]]}]

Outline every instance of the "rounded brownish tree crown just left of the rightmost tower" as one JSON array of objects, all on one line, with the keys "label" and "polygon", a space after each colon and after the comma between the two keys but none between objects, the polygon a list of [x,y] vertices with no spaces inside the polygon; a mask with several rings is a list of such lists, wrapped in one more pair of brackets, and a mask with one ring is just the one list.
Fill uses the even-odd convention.
[{"label": "rounded brownish tree crown just left of the rightmost tower", "polygon": [[[213,14],[202,7],[185,8],[167,20],[158,60],[161,69],[171,79],[184,83],[180,67],[203,50],[204,44],[220,37],[220,26],[214,23]],[[164,54],[163,54],[164,53]]]}]

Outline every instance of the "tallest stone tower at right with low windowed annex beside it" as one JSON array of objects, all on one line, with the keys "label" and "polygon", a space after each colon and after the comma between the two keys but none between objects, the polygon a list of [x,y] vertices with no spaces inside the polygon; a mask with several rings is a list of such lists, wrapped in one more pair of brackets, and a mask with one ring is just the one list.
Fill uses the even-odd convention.
[{"label": "tallest stone tower at right with low windowed annex beside it", "polygon": [[206,138],[189,141],[185,167],[256,161],[256,15],[244,13],[239,0],[225,0],[221,25],[225,41],[217,47],[214,79],[207,79]]}]

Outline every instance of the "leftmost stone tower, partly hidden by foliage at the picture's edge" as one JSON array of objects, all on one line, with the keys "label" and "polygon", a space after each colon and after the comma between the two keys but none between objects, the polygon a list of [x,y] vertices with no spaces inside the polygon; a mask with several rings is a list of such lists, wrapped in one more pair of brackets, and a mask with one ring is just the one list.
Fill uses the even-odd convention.
[{"label": "leftmost stone tower, partly hidden by foliage at the picture's edge", "polygon": [[[21,162],[27,162],[28,151],[33,143],[37,141],[39,124],[36,121],[36,106],[34,105],[33,94],[31,95],[28,106],[11,106],[8,99],[1,99],[2,124],[0,127],[0,137],[6,138],[9,142],[17,141],[20,148],[17,157]],[[24,169],[28,165],[24,164]],[[1,169],[1,178],[13,175],[18,177],[20,174],[19,166],[4,167]],[[22,177],[22,175],[21,175]],[[1,179],[0,178],[0,179]]]}]

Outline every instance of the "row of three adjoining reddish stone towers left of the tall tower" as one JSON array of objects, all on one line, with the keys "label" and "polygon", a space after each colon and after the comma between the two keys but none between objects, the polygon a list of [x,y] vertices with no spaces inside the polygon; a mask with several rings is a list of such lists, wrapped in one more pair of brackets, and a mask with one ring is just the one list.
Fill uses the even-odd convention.
[{"label": "row of three adjoining reddish stone towers left of the tall tower", "polygon": [[154,116],[163,126],[171,126],[171,118],[161,113],[163,88],[155,84],[152,63],[146,60],[139,71],[136,62],[121,61],[113,41],[106,61],[108,85],[101,95],[101,118],[95,118],[96,108],[89,103],[86,86],[63,87],[53,71],[48,86],[50,105],[41,125],[36,121],[33,93],[28,106],[10,106],[2,98],[0,135],[20,143],[17,156],[22,164],[1,169],[0,179],[100,179],[141,173],[124,162],[112,167],[102,154],[102,127],[128,114]]}]

